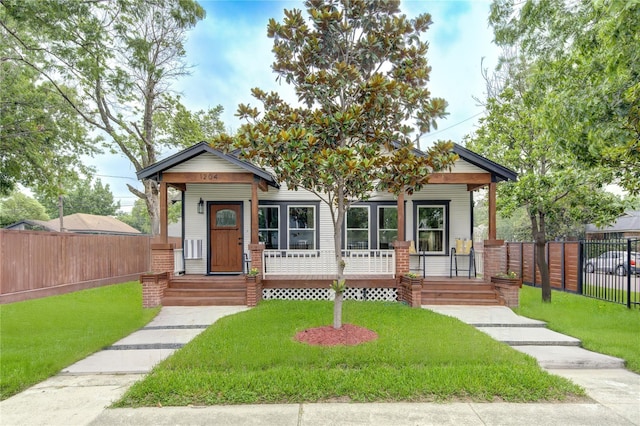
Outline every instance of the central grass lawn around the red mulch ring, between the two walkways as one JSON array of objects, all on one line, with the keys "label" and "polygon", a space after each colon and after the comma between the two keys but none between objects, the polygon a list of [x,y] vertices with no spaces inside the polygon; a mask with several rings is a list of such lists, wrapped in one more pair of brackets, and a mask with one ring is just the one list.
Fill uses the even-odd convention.
[{"label": "central grass lawn around the red mulch ring, between the two walkways", "polygon": [[456,319],[399,303],[344,305],[377,332],[358,346],[294,340],[328,325],[332,302],[263,301],[220,319],[115,404],[184,406],[315,401],[540,401],[584,395],[533,358]]}]

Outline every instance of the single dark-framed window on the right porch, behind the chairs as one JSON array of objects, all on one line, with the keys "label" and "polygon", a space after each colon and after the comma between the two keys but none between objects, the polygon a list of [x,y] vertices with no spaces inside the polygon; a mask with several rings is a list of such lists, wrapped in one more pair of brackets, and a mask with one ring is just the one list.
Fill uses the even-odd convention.
[{"label": "single dark-framed window on the right porch, behind the chairs", "polygon": [[446,254],[446,231],[445,206],[417,206],[418,251],[431,254]]}]

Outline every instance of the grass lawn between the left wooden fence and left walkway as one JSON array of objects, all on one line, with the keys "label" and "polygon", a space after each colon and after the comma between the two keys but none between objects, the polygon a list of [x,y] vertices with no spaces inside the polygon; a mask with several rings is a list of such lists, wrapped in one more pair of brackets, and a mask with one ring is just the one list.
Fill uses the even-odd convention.
[{"label": "grass lawn between the left wooden fence and left walkway", "polygon": [[148,323],[137,282],[0,305],[0,399]]}]

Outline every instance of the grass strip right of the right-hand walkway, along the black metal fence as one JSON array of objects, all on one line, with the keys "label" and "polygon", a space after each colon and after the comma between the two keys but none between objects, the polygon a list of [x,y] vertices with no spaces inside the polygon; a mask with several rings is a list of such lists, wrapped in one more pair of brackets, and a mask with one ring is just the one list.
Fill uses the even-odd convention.
[{"label": "grass strip right of the right-hand walkway, along the black metal fence", "polygon": [[629,370],[640,373],[639,309],[561,291],[552,292],[551,303],[542,303],[541,292],[522,286],[515,311],[580,339],[586,349],[622,358]]}]

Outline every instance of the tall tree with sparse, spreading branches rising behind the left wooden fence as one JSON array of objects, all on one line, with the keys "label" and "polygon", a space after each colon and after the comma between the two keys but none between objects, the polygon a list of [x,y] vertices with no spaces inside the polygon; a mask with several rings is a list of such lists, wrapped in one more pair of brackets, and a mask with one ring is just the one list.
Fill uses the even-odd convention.
[{"label": "tall tree with sparse, spreading branches rising behind the left wooden fence", "polygon": [[[136,171],[158,160],[163,148],[182,145],[162,134],[161,116],[184,108],[170,84],[187,73],[186,32],[204,17],[194,0],[2,0],[0,27],[11,41],[11,60],[38,72],[93,130],[107,148],[123,154]],[[71,96],[62,81],[73,83]],[[181,109],[182,108],[182,109]],[[213,113],[215,116],[215,113]],[[159,232],[158,186],[145,180],[151,231]]]}]

